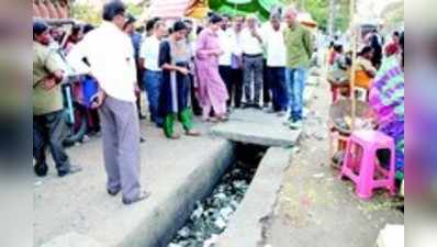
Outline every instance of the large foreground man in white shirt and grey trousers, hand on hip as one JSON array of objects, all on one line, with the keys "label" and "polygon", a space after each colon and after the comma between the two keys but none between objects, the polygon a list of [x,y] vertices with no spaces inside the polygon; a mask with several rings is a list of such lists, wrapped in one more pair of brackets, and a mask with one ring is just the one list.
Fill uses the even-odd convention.
[{"label": "large foreground man in white shirt and grey trousers, hand on hip", "polygon": [[107,190],[111,195],[122,191],[123,203],[132,204],[146,199],[149,193],[142,191],[139,184],[136,68],[132,42],[122,31],[125,11],[121,1],[107,3],[102,25],[88,33],[68,59],[78,71],[90,74],[99,81],[101,91],[96,104],[101,105]]}]

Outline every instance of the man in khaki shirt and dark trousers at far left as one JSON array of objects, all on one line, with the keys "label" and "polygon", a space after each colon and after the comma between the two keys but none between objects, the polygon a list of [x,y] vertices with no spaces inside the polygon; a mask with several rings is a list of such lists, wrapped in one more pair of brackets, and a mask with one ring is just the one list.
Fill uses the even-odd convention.
[{"label": "man in khaki shirt and dark trousers at far left", "polygon": [[57,53],[48,47],[51,36],[43,22],[33,23],[33,157],[37,176],[47,175],[48,145],[59,177],[79,171],[71,167],[63,147],[63,94],[60,81],[64,72],[57,63]]}]

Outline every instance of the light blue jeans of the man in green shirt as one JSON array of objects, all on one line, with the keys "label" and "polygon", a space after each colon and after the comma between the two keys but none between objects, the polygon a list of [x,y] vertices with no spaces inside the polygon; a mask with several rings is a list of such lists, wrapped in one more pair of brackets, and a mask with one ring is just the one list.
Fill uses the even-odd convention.
[{"label": "light blue jeans of the man in green shirt", "polygon": [[287,81],[290,86],[290,121],[301,121],[303,119],[303,91],[305,89],[306,68],[288,68]]}]

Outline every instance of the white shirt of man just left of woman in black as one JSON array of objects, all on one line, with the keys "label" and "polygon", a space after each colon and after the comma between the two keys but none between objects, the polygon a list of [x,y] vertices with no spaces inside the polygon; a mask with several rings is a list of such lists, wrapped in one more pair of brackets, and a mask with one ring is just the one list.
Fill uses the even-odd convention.
[{"label": "white shirt of man just left of woman in black", "polygon": [[158,65],[160,41],[156,35],[147,37],[141,47],[139,57],[144,59],[144,68],[152,71],[161,71]]}]

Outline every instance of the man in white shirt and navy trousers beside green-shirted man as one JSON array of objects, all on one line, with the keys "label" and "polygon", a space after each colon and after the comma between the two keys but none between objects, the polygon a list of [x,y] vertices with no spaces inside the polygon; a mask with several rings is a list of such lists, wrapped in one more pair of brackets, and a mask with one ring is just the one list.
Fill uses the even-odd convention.
[{"label": "man in white shirt and navy trousers beside green-shirted man", "polygon": [[288,85],[285,80],[287,48],[283,40],[280,13],[270,16],[270,24],[265,32],[267,50],[267,74],[272,92],[272,111],[283,116],[288,108]]}]

